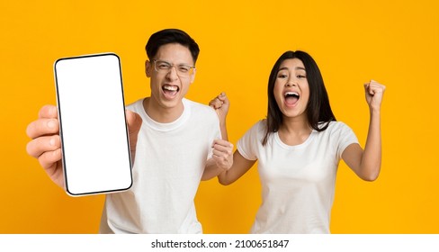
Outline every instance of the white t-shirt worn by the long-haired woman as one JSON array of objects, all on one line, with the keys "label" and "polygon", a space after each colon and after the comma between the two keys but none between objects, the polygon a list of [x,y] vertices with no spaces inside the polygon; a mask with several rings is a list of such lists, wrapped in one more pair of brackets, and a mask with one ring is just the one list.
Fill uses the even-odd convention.
[{"label": "white t-shirt worn by the long-haired woman", "polygon": [[238,140],[239,153],[258,160],[262,204],[252,233],[329,233],[336,170],[345,148],[358,139],[345,123],[331,121],[313,130],[300,145],[288,146],[277,132],[262,139],[266,121],[258,121]]}]

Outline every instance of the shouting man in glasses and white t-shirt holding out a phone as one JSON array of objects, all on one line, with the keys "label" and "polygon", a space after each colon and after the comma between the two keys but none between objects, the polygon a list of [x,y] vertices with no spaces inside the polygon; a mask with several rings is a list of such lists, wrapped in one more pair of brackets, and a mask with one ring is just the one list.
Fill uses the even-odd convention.
[{"label": "shouting man in glasses and white t-shirt holding out a phone", "polygon": [[[184,98],[196,74],[197,43],[166,29],[149,38],[146,50],[151,96],[127,107],[133,185],[106,195],[100,232],[202,233],[195,193],[201,180],[231,166],[233,145],[221,139],[211,107]],[[28,153],[64,188],[56,107],[44,106],[27,134]]]}]

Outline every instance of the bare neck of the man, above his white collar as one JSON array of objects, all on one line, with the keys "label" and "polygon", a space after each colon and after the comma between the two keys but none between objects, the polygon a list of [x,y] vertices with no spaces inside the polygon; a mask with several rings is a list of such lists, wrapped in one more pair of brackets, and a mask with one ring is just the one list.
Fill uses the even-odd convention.
[{"label": "bare neck of the man, above his white collar", "polygon": [[164,107],[153,101],[154,98],[147,97],[143,100],[143,108],[148,116],[160,123],[169,123],[177,120],[184,112],[183,102],[175,107]]}]

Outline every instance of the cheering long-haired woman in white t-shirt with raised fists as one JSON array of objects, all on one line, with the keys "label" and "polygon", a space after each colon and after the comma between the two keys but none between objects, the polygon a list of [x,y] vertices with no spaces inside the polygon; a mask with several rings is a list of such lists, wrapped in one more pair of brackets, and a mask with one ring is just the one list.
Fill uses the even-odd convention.
[{"label": "cheering long-haired woman in white t-shirt with raised fists", "polygon": [[[314,59],[298,50],[276,61],[268,81],[266,120],[238,140],[233,166],[218,176],[219,183],[231,184],[258,160],[263,201],[252,233],[329,233],[341,158],[363,180],[378,177],[385,86],[371,81],[364,89],[371,120],[363,149],[353,130],[336,121]],[[219,95],[211,106],[225,125],[227,96]]]}]

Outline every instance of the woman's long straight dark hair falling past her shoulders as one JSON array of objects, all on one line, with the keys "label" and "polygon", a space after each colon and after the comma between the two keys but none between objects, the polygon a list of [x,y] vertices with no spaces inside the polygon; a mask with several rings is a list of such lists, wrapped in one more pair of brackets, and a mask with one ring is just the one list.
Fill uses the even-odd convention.
[{"label": "woman's long straight dark hair falling past her shoulders", "polygon": [[303,66],[307,73],[309,101],[306,112],[309,126],[314,130],[323,131],[327,129],[329,121],[336,121],[336,116],[331,110],[331,105],[329,104],[329,98],[327,96],[327,89],[323,83],[323,77],[320,73],[320,69],[318,69],[316,61],[304,51],[289,50],[284,52],[282,56],[277,59],[270,77],[268,78],[267,129],[262,141],[263,145],[267,143],[268,136],[273,132],[277,132],[282,125],[282,112],[274,98],[274,83],[276,82],[279,67],[283,60],[290,58],[299,58],[303,62]]}]

